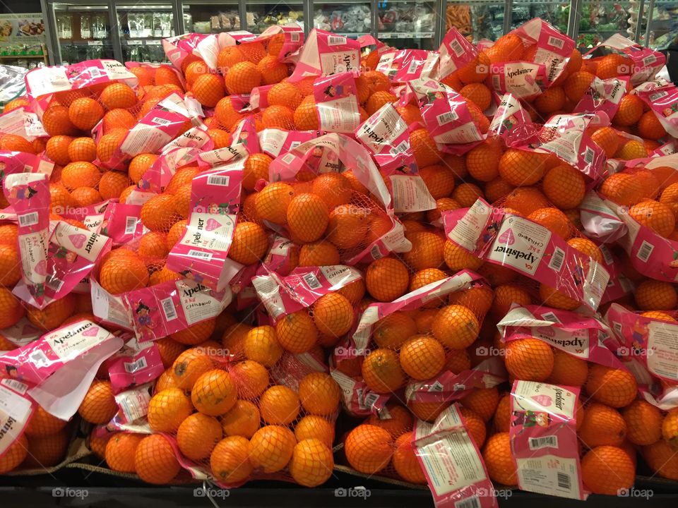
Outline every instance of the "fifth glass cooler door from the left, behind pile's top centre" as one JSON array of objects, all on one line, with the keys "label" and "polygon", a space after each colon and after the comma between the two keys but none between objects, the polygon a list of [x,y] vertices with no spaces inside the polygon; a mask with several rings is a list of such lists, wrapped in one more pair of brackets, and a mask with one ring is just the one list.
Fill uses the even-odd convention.
[{"label": "fifth glass cooler door from the left, behind pile's top centre", "polygon": [[372,32],[372,11],[369,0],[314,1],[311,12],[313,16],[311,28],[354,38]]}]

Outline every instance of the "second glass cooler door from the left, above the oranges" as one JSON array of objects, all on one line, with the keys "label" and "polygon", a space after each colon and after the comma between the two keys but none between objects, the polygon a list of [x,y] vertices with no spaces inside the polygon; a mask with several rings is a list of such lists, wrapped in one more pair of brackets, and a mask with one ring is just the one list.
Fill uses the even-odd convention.
[{"label": "second glass cooler door from the left, above the oranges", "polygon": [[124,61],[167,61],[162,39],[175,35],[172,4],[116,5]]}]

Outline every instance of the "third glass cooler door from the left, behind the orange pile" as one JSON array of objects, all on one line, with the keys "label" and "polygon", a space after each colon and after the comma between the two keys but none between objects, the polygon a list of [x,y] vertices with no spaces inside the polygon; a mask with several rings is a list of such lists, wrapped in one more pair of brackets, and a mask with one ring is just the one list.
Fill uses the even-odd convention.
[{"label": "third glass cooler door from the left, behind the orange pile", "polygon": [[184,32],[219,33],[245,30],[240,21],[237,0],[220,1],[211,4],[206,0],[182,2]]}]

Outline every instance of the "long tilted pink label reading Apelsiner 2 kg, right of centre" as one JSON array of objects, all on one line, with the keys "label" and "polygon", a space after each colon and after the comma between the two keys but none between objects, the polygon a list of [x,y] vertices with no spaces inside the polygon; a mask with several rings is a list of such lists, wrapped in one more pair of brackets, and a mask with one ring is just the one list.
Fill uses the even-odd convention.
[{"label": "long tilted pink label reading Apelsiner 2 kg, right of centre", "polygon": [[549,229],[482,199],[466,212],[444,212],[443,223],[447,237],[478,258],[527,275],[592,310],[599,305],[609,274]]}]

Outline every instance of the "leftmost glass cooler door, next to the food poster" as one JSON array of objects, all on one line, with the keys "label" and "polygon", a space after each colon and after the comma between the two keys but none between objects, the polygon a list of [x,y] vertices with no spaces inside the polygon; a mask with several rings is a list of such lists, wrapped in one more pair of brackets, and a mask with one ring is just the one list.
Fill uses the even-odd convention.
[{"label": "leftmost glass cooler door, next to the food poster", "polygon": [[105,2],[49,4],[54,63],[114,59],[111,20]]}]

